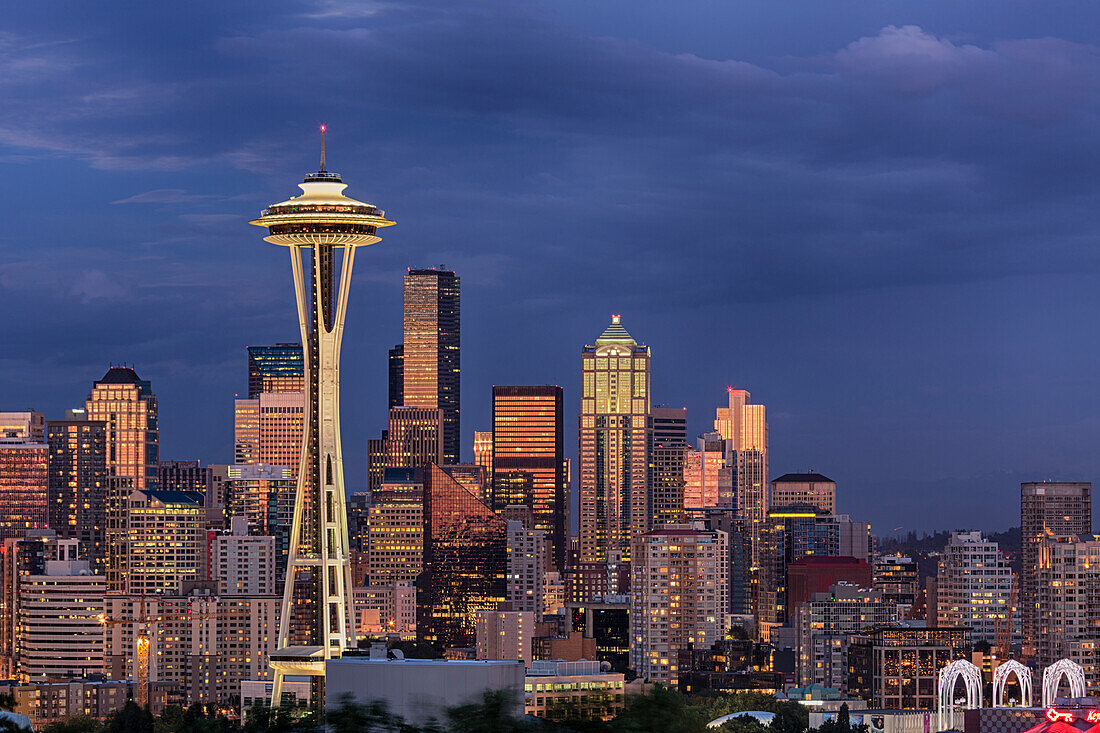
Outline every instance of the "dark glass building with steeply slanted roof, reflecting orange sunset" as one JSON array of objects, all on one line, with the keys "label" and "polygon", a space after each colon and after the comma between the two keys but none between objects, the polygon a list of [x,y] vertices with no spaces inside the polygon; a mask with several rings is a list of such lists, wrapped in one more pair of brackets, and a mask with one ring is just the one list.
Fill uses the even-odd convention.
[{"label": "dark glass building with steeply slanted roof, reflecting orange sunset", "polygon": [[506,600],[506,522],[435,463],[424,473],[424,515],[417,638],[440,649],[473,646],[477,612]]}]

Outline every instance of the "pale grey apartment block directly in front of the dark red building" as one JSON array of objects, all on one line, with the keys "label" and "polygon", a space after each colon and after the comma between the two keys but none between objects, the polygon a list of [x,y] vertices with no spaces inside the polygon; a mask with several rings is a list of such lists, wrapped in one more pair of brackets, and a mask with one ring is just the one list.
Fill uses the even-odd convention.
[{"label": "pale grey apartment block directly in front of the dark red building", "polygon": [[794,610],[799,632],[799,687],[848,690],[848,639],[898,620],[898,608],[879,591],[837,583]]}]

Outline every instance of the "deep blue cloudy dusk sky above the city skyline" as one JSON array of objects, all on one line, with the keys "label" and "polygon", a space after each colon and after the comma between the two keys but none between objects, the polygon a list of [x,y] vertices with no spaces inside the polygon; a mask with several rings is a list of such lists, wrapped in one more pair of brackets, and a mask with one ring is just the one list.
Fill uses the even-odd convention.
[{"label": "deep blue cloudy dusk sky above the city skyline", "polygon": [[[232,460],[245,347],[298,340],[248,226],[329,168],[356,256],[346,483],[385,427],[402,276],[462,277],[462,435],[610,314],[654,402],[768,406],[876,534],[1001,529],[1100,478],[1100,8],[1015,0],[28,2],[0,24],[0,409],[112,362],[164,459]],[[575,479],[575,471],[574,471]]]}]

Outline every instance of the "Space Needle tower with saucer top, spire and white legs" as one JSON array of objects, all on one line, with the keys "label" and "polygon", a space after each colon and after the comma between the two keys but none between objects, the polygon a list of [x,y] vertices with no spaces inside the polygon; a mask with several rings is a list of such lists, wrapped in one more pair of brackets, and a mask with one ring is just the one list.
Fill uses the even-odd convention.
[{"label": "Space Needle tower with saucer top, spire and white legs", "polygon": [[266,227],[264,240],[290,251],[306,371],[294,523],[271,655],[272,705],[280,704],[287,675],[308,676],[312,708],[323,716],[324,661],[355,646],[340,456],[340,341],[355,248],[381,241],[377,229],[395,222],[382,209],[343,195],[346,185],[324,168],[323,127],[320,169],[298,187],[300,196],[271,205],[249,223]]}]

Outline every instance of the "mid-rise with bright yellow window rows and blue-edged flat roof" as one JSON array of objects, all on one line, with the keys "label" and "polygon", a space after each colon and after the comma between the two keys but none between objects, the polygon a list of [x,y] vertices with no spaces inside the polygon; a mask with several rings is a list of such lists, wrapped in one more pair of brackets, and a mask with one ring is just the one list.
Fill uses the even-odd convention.
[{"label": "mid-rise with bright yellow window rows and blue-edged flat roof", "polygon": [[179,594],[202,580],[206,508],[193,491],[134,491],[127,502],[127,593]]}]

